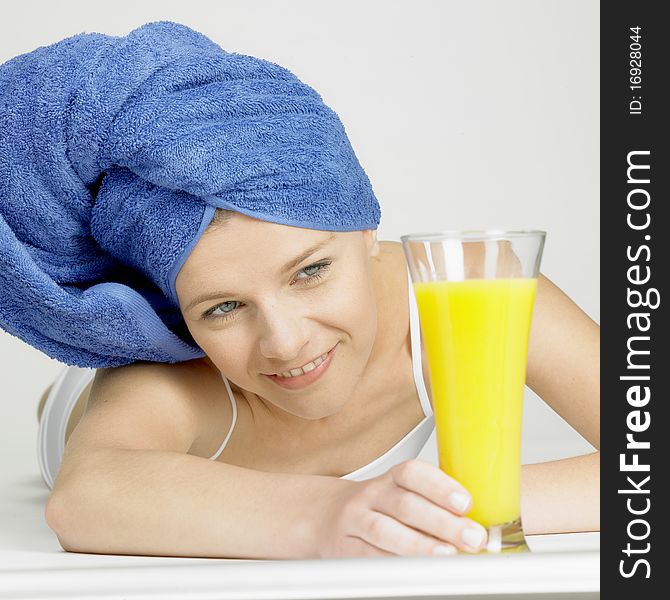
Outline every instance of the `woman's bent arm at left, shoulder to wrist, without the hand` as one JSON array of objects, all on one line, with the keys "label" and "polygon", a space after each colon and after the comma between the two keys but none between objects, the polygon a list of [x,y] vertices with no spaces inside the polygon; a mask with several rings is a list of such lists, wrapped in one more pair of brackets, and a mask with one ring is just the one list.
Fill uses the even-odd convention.
[{"label": "woman's bent arm at left, shoulder to wrist, without the hand", "polygon": [[[354,482],[264,473],[187,454],[212,419],[197,361],[99,369],[68,439],[47,524],[65,550],[219,558],[315,557],[322,499]],[[229,403],[223,406],[230,407]]]}]

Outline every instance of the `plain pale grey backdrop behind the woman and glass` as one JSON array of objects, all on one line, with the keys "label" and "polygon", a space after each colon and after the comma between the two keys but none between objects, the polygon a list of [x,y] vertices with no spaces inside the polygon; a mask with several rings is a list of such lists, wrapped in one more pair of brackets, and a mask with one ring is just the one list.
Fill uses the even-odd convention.
[{"label": "plain pale grey backdrop behind the woman and glass", "polygon": [[[24,0],[2,12],[0,62],[169,19],[289,68],[340,115],[382,205],[379,239],[544,229],[542,272],[599,320],[597,2]],[[0,331],[0,473],[20,472],[38,505],[37,403],[62,366]],[[524,411],[524,462],[592,451],[530,390]]]}]

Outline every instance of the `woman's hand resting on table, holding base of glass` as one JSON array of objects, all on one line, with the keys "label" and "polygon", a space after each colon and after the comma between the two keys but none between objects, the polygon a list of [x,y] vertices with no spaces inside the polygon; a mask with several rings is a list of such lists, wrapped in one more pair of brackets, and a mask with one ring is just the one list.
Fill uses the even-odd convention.
[{"label": "woman's hand resting on table, holding base of glass", "polygon": [[470,494],[430,463],[408,460],[374,479],[347,483],[317,524],[321,558],[456,554],[486,544],[486,530],[463,516],[472,507]]}]

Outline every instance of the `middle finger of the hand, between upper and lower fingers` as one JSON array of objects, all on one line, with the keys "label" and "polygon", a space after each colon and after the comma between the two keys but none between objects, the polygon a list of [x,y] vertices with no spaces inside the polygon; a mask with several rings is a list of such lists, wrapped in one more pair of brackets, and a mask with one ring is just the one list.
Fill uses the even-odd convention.
[{"label": "middle finger of the hand, between upper and lower fingers", "polygon": [[446,541],[466,552],[479,552],[486,541],[486,529],[479,523],[401,487],[378,495],[371,508],[436,538],[436,543]]}]

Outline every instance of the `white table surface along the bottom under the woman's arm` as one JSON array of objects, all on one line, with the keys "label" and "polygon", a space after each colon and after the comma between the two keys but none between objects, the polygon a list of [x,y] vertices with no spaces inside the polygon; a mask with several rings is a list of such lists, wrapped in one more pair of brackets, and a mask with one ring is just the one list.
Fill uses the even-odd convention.
[{"label": "white table surface along the bottom under the woman's arm", "polygon": [[5,551],[0,598],[599,597],[598,534],[529,544],[525,554],[295,561]]}]

